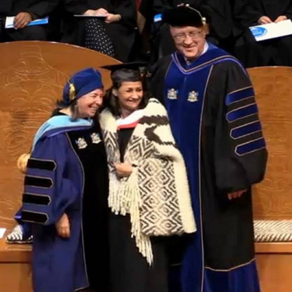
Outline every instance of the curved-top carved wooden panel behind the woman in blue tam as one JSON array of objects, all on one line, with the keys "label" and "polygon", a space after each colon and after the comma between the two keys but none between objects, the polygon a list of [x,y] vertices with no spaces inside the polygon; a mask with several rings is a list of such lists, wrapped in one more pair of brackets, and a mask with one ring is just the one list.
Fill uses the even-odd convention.
[{"label": "curved-top carved wooden panel behind the woman in blue tam", "polygon": [[[29,151],[64,84],[80,69],[119,62],[85,48],[40,41],[2,43],[0,56],[0,227],[11,228],[23,188],[18,156]],[[110,74],[100,71],[107,88]]]}]

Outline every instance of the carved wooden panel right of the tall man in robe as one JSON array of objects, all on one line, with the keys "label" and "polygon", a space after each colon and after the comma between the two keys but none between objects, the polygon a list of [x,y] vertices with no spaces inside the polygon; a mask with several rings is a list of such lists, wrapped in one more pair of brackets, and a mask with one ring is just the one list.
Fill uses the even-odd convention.
[{"label": "carved wooden panel right of the tall man in robe", "polygon": [[254,188],[256,219],[292,219],[292,68],[248,70],[269,152],[265,180]]}]

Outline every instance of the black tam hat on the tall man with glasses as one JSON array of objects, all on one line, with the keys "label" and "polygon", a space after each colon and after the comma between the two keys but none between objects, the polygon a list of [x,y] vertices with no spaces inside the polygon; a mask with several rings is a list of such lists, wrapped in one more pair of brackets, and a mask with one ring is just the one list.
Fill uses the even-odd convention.
[{"label": "black tam hat on the tall man with glasses", "polygon": [[201,27],[206,24],[206,16],[189,4],[180,4],[179,6],[165,10],[162,15],[162,21],[171,26],[196,26]]}]

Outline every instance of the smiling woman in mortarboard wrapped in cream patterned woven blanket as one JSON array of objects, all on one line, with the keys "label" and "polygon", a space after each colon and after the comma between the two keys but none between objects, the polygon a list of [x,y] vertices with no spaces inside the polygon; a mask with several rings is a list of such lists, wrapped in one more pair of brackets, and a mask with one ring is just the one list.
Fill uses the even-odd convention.
[{"label": "smiling woman in mortarboard wrapped in cream patterned woven blanket", "polygon": [[184,161],[164,107],[147,98],[139,63],[111,70],[100,114],[110,172],[113,292],[167,292],[165,236],[196,231]]}]

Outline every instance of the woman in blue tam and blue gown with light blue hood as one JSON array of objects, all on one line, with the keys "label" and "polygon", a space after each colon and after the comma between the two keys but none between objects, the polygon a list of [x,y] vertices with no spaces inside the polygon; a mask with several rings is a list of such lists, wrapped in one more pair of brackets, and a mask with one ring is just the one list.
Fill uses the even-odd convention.
[{"label": "woman in blue tam and blue gown with light blue hood", "polygon": [[22,199],[22,219],[33,222],[34,292],[108,289],[108,173],[96,119],[103,93],[98,71],[75,73],[35,136]]}]

